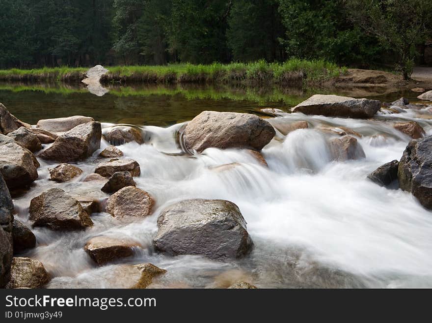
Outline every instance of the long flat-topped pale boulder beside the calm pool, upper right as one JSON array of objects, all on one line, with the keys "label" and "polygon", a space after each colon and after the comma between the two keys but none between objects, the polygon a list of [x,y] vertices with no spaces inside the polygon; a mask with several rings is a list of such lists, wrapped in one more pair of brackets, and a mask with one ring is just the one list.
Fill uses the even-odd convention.
[{"label": "long flat-topped pale boulder beside the calm pool, upper right", "polygon": [[326,117],[369,118],[377,113],[380,106],[381,102],[377,100],[315,94],[306,101],[297,104],[291,111]]}]

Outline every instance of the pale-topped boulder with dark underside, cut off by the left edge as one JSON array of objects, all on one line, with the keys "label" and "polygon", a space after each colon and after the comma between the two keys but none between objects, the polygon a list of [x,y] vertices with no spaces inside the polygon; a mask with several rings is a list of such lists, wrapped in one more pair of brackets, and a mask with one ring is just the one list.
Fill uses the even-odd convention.
[{"label": "pale-topped boulder with dark underside, cut off by the left edge", "polygon": [[17,143],[0,145],[0,172],[9,189],[31,184],[38,177],[38,166],[28,149]]}]

